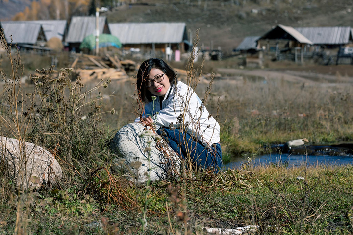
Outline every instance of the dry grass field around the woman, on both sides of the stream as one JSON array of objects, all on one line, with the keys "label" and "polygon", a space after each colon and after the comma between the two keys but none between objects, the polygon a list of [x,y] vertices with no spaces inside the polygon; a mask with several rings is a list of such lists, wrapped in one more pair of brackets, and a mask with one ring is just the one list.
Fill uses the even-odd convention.
[{"label": "dry grass field around the woman, on both sides of the stream", "polygon": [[[352,233],[352,165],[253,167],[248,158],[240,169],[216,175],[191,172],[136,185],[112,167],[116,155],[106,146],[136,117],[133,79],[73,83],[70,70],[52,79],[46,67],[22,84],[30,69],[22,71],[16,55],[11,61],[3,74],[2,135],[22,136],[55,153],[64,177],[52,188],[19,192],[1,162],[0,234],[204,234],[204,227],[243,225],[258,225],[255,234]],[[205,63],[207,70],[234,65]],[[206,107],[218,116],[225,158],[298,138],[308,144],[353,140],[352,86],[340,75],[303,84],[286,75],[215,72],[220,75]],[[198,84],[199,96],[206,87]]]}]

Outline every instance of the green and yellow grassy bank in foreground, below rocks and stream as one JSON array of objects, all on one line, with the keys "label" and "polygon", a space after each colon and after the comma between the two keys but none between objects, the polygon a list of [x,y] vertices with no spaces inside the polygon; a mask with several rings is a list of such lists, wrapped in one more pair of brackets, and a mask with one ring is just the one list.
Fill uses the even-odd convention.
[{"label": "green and yellow grassy bank in foreground, below rocks and stream", "polygon": [[12,234],[20,216],[21,234],[203,234],[204,227],[244,225],[259,225],[254,234],[351,234],[352,172],[352,166],[252,168],[249,163],[216,176],[152,183],[144,229],[146,186],[126,185],[120,192],[132,201],[110,203],[109,193],[118,192],[107,191],[104,180],[51,193],[9,193],[1,195],[0,231]]}]

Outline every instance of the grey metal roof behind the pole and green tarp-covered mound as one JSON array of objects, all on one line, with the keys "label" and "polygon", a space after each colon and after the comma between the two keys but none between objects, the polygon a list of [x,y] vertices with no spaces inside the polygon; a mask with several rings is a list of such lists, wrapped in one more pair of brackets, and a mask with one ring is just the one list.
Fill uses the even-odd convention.
[{"label": "grey metal roof behind the pole and green tarp-covered mound", "polygon": [[[103,33],[106,17],[99,17],[99,32]],[[65,42],[81,43],[83,39],[90,35],[96,35],[96,17],[95,16],[74,16],[71,18],[68,34]]]}]

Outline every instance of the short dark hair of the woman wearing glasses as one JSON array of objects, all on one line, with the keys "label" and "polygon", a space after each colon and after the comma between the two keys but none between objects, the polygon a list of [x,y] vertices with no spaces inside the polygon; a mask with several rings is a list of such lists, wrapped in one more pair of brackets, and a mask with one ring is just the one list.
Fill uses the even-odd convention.
[{"label": "short dark hair of the woman wearing glasses", "polygon": [[173,69],[166,63],[164,60],[159,58],[151,58],[142,62],[139,70],[137,71],[136,76],[136,86],[137,86],[137,94],[139,98],[144,102],[148,103],[152,101],[152,94],[146,87],[146,80],[150,74],[151,69],[159,69],[166,73],[169,78],[170,84],[174,84],[176,79],[176,73]]}]

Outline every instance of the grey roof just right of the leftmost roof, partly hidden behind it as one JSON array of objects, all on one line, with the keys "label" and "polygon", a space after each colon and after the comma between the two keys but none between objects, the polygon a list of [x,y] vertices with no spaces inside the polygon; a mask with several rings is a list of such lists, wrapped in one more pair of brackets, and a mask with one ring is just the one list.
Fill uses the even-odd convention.
[{"label": "grey roof just right of the leftmost roof, partly hidden behind it", "polygon": [[66,30],[66,20],[48,20],[48,21],[29,21],[34,23],[42,24],[44,33],[46,35],[47,41],[52,37],[57,37],[63,41],[63,37]]}]

